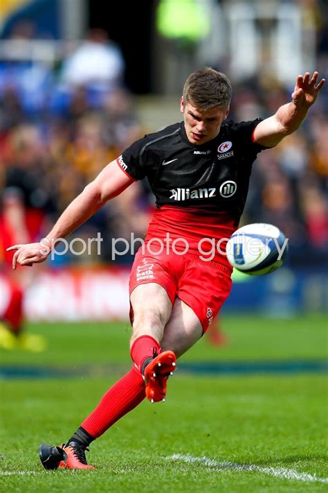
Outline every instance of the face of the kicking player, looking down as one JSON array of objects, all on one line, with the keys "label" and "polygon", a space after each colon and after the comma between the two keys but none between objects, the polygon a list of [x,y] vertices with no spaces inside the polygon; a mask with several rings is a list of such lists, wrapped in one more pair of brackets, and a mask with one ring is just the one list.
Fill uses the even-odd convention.
[{"label": "face of the kicking player, looking down", "polygon": [[185,122],[185,133],[192,144],[201,145],[215,139],[219,134],[221,123],[229,113],[227,109],[216,107],[212,110],[201,111],[191,103],[185,103],[181,98],[181,113]]}]

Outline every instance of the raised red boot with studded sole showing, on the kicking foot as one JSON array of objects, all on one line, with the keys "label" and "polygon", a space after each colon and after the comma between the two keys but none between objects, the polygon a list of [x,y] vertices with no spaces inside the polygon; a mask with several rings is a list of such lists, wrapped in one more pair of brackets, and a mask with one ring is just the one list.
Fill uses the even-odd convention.
[{"label": "raised red boot with studded sole showing, on the kicking foot", "polygon": [[149,401],[165,402],[167,379],[176,369],[176,355],[163,351],[150,361],[144,370],[146,397]]}]

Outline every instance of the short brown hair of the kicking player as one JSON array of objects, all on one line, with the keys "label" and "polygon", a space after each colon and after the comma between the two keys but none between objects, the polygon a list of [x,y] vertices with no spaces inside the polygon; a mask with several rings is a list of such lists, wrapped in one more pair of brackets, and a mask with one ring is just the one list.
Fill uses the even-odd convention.
[{"label": "short brown hair of the kicking player", "polygon": [[230,105],[233,87],[224,73],[204,67],[190,73],[183,86],[183,101],[203,111]]}]

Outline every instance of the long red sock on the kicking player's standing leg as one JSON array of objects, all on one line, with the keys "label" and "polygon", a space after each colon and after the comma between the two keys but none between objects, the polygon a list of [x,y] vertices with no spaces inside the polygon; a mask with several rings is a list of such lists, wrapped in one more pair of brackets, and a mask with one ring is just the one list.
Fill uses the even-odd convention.
[{"label": "long red sock on the kicking player's standing leg", "polygon": [[113,387],[107,390],[95,410],[81,424],[93,438],[98,438],[120,417],[145,399],[145,381],[133,365]]}]

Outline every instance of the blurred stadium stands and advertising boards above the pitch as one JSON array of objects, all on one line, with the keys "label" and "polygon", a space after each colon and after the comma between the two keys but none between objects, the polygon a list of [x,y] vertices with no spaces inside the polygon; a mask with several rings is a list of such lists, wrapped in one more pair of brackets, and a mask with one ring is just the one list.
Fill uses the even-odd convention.
[{"label": "blurred stadium stands and advertising boards above the pitch", "polygon": [[[97,1],[1,2],[1,175],[4,186],[10,168],[24,166],[33,181],[29,207],[44,213],[34,238],[132,141],[181,119],[181,87],[197,67],[228,73],[236,120],[273,114],[289,100],[299,72],[327,72],[323,7],[317,1],[147,1],[129,6],[129,16],[122,3],[110,16]],[[93,43],[86,47],[88,36]],[[79,46],[84,51],[76,58]],[[289,238],[289,260],[275,275],[236,276],[224,310],[274,315],[279,307],[289,316],[324,309],[327,107],[326,85],[302,128],[257,158],[242,224],[280,227]],[[19,164],[22,153],[30,153],[26,164]],[[125,318],[127,273],[107,269],[106,275],[99,267],[113,263],[111,239],[143,237],[152,207],[147,184],[138,183],[91,218],[72,238],[101,232],[101,256],[95,248],[58,255],[40,269],[28,286],[27,317]],[[132,258],[120,255],[115,266],[129,266]]]}]

